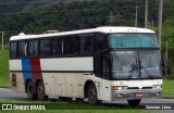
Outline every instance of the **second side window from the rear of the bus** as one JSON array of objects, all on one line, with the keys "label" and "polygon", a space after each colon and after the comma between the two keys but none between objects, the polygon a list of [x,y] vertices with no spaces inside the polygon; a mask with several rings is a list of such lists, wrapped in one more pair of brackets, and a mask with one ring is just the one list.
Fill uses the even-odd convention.
[{"label": "second side window from the rear of the bus", "polygon": [[18,41],[18,55],[20,58],[25,56],[25,41]]}]

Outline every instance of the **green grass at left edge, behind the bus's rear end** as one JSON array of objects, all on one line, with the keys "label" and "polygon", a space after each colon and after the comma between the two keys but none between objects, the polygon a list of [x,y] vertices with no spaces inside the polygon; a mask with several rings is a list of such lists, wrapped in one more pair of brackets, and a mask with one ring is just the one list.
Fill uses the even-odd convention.
[{"label": "green grass at left edge, behind the bus's rear end", "polygon": [[8,51],[0,52],[0,87],[10,87]]}]

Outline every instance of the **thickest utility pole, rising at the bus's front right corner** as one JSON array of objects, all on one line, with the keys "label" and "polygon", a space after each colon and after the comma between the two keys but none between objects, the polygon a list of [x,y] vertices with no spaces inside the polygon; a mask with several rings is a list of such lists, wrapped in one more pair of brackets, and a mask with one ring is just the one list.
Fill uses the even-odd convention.
[{"label": "thickest utility pole, rising at the bus's front right corner", "polygon": [[163,12],[163,0],[159,0],[158,39],[160,49],[161,49],[162,12]]}]

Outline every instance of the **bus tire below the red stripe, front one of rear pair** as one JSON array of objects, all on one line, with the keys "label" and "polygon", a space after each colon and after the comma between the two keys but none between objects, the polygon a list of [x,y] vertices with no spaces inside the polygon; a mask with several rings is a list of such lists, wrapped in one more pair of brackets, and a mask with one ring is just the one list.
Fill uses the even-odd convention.
[{"label": "bus tire below the red stripe, front one of rear pair", "polygon": [[42,80],[40,80],[37,84],[36,92],[37,92],[38,100],[46,100],[48,98],[48,96],[46,96],[45,86],[44,86]]}]

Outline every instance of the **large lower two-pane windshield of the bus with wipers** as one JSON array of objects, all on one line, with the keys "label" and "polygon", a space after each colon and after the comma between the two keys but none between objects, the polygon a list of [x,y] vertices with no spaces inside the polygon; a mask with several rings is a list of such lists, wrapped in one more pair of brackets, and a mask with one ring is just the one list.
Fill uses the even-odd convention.
[{"label": "large lower two-pane windshield of the bus with wipers", "polygon": [[159,50],[112,51],[112,78],[161,77]]}]

